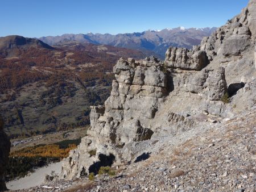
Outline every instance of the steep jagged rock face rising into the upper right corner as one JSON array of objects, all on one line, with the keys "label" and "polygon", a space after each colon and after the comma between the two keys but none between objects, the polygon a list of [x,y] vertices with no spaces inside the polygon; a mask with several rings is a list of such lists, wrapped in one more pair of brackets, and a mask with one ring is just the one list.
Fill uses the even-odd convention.
[{"label": "steep jagged rock face rising into the upper right corner", "polygon": [[237,56],[255,43],[256,1],[251,0],[240,15],[230,19],[228,23],[217,29],[210,37],[201,42],[201,50],[208,57]]}]

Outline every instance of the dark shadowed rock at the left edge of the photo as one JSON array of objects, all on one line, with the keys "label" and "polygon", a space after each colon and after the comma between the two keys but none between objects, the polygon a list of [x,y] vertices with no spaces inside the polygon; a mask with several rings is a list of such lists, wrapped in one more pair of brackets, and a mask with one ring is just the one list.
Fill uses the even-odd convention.
[{"label": "dark shadowed rock at the left edge of the photo", "polygon": [[0,191],[7,190],[5,185],[6,165],[9,162],[11,143],[3,131],[3,119],[0,116]]}]

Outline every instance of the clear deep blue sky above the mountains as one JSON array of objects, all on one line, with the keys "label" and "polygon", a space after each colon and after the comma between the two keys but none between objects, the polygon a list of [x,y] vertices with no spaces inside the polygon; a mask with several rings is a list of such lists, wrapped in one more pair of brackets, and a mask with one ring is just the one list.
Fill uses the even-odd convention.
[{"label": "clear deep blue sky above the mountains", "polygon": [[0,36],[219,27],[249,0],[0,0]]}]

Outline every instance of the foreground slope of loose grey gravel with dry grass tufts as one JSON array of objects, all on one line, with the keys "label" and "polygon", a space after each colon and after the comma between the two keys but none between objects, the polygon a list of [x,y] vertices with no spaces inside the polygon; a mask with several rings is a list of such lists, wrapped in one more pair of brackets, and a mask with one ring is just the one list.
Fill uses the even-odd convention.
[{"label": "foreground slope of loose grey gravel with dry grass tufts", "polygon": [[[55,180],[30,191],[236,191],[256,189],[256,110],[155,144],[148,158],[114,177]],[[185,139],[187,138],[187,139]],[[160,147],[161,146],[161,147]],[[159,148],[160,147],[160,148]],[[55,187],[59,187],[56,189]],[[24,192],[27,190],[19,190]]]}]

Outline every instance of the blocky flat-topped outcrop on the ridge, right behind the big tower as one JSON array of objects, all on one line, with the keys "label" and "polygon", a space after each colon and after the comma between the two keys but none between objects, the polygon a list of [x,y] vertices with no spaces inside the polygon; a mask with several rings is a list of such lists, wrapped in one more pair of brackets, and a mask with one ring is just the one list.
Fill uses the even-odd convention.
[{"label": "blocky flat-topped outcrop on the ridge, right behind the big tower", "polygon": [[208,64],[207,54],[204,51],[170,47],[166,52],[166,64],[169,68],[184,70],[201,70]]}]

